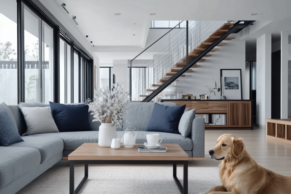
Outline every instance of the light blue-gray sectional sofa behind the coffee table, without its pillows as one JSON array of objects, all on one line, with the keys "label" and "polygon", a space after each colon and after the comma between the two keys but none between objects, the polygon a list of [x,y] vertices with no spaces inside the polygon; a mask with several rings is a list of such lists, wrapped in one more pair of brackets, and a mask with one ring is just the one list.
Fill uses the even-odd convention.
[{"label": "light blue-gray sectional sofa behind the coffee table, without its pillows", "polygon": [[[176,106],[175,103],[160,104]],[[146,142],[146,134],[153,133],[144,130],[150,120],[154,103],[131,103],[129,106],[132,109],[125,115],[123,129],[117,131],[117,137],[123,135],[128,128],[135,129],[136,143],[142,144]],[[24,134],[26,123],[21,110],[16,105],[9,108],[17,122],[19,134]],[[22,142],[7,147],[0,146],[0,194],[15,194],[82,143],[98,142],[100,123],[91,122],[92,120],[93,117],[89,114],[92,131],[34,134],[22,137]],[[187,138],[178,134],[158,133],[162,143],[178,143],[190,158],[204,158],[204,118],[195,116],[191,128],[191,135]]]}]

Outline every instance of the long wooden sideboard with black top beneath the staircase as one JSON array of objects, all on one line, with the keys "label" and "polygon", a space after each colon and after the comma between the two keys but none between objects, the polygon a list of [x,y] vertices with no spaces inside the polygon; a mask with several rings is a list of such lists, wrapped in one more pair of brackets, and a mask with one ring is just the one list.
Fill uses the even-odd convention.
[{"label": "long wooden sideboard with black top beneath the staircase", "polygon": [[225,114],[225,125],[205,125],[205,128],[248,128],[253,129],[251,100],[162,100],[186,109],[196,109],[196,114]]}]

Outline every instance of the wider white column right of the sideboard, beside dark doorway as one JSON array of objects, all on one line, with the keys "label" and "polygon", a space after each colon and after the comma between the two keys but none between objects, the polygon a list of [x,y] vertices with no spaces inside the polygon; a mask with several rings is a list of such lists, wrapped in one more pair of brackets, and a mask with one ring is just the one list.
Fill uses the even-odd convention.
[{"label": "wider white column right of the sideboard, beside dark doorway", "polygon": [[257,123],[271,118],[271,34],[257,38]]}]

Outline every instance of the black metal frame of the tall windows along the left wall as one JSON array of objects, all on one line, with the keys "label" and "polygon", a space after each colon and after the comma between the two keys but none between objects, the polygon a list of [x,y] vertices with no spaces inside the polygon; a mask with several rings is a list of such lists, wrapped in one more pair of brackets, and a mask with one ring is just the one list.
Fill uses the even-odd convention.
[{"label": "black metal frame of the tall windows along the left wall", "polygon": [[[79,84],[84,84],[84,92],[80,91],[79,85],[79,103],[81,102],[81,95],[83,100],[86,98],[93,99],[93,73],[94,61],[90,54],[87,54],[75,41],[75,37],[70,35],[70,32],[65,28],[62,29],[53,15],[41,4],[38,0],[17,0],[17,65],[18,65],[18,103],[25,102],[25,45],[24,45],[24,5],[26,5],[34,14],[36,14],[42,21],[53,28],[53,102],[59,103],[59,56],[60,56],[60,38],[71,46],[71,83],[74,78],[74,52],[79,55]],[[51,18],[49,16],[51,16]],[[66,33],[67,32],[67,33]],[[69,35],[68,35],[69,34]],[[76,43],[77,42],[77,43]],[[81,58],[84,59],[83,82],[80,80]],[[86,61],[86,62],[85,62]],[[74,92],[74,84],[71,84],[71,94]],[[74,95],[71,95],[71,102],[74,102]]]}]

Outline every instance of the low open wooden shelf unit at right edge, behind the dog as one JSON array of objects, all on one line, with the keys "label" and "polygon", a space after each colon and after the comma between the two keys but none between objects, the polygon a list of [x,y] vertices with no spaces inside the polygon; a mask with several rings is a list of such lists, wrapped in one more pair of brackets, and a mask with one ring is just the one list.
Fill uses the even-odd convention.
[{"label": "low open wooden shelf unit at right edge, behind the dog", "polygon": [[291,144],[291,119],[266,119],[266,139]]}]

